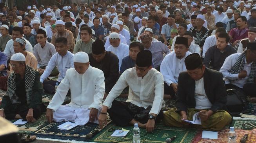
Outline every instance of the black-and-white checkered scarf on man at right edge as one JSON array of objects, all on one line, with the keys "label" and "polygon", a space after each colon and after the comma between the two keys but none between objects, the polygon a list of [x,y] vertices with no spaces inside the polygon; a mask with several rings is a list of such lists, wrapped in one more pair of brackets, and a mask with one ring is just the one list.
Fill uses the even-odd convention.
[{"label": "black-and-white checkered scarf on man at right edge", "polygon": [[[234,66],[231,68],[231,70],[228,70],[229,73],[236,74],[236,73],[240,73],[243,70],[243,67],[245,66],[245,53],[246,53],[246,50],[241,53],[241,55],[236,60],[236,63],[234,64]],[[255,73],[256,73],[256,63],[253,62],[251,72],[247,80],[248,83],[254,82]]]}]

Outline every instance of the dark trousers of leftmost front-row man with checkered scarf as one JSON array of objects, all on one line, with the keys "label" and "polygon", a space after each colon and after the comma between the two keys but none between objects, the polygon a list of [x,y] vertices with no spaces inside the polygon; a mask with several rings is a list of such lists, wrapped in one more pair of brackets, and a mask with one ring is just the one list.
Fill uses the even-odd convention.
[{"label": "dark trousers of leftmost front-row man with checkered scarf", "polygon": [[[35,108],[33,108],[33,117],[35,119],[39,118],[42,113],[46,111],[46,107],[44,104],[39,104]],[[5,109],[5,118],[8,120],[13,120],[15,119],[16,114],[19,114],[23,120],[26,120],[27,113],[29,111],[29,108],[24,108],[24,107],[16,107],[15,109]]]}]

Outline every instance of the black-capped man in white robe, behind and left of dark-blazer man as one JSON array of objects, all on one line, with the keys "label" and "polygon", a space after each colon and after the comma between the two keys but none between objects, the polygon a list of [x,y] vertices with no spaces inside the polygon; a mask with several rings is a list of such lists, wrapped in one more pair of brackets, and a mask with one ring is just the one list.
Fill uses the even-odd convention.
[{"label": "black-capped man in white robe, behind and left of dark-blazer man", "polygon": [[[185,37],[177,37],[174,52],[166,55],[161,63],[160,72],[164,79],[165,98],[175,98],[178,87],[178,77],[182,71],[186,71],[185,58],[191,54]],[[170,95],[170,96],[168,96]]]}]

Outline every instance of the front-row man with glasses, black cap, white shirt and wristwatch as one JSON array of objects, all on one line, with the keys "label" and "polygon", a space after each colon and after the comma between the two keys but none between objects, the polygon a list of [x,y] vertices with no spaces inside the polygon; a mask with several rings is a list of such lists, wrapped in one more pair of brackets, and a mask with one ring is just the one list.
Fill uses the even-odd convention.
[{"label": "front-row man with glasses, black cap, white shirt and wristwatch", "polygon": [[[128,100],[114,100],[127,86]],[[134,68],[125,70],[109,92],[99,116],[99,125],[103,127],[108,112],[111,120],[118,126],[138,123],[140,128],[152,132],[155,122],[163,118],[164,105],[163,75],[152,68],[151,52],[143,50],[137,54]]]}]

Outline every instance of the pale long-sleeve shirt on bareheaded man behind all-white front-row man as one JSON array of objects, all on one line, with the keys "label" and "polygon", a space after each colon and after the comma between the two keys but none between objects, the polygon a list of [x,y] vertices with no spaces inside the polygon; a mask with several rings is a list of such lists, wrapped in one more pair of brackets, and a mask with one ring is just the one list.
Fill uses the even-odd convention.
[{"label": "pale long-sleeve shirt on bareheaded man behind all-white front-row man", "polygon": [[67,51],[67,54],[64,55],[63,57],[59,54],[56,53],[54,54],[48,65],[45,68],[44,73],[41,75],[40,77],[40,82],[44,82],[44,80],[49,77],[49,75],[51,74],[51,71],[53,71],[53,68],[55,68],[57,66],[57,69],[59,71],[59,75],[58,75],[58,82],[62,81],[62,79],[64,79],[65,75],[66,75],[66,71],[70,68],[74,68],[74,54],[72,54],[71,52]]}]

